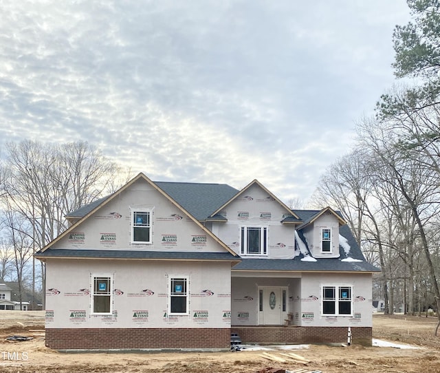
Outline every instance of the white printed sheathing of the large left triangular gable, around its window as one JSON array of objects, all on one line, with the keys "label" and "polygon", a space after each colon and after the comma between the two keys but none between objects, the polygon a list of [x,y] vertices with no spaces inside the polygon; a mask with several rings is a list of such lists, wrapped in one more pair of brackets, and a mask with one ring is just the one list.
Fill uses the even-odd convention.
[{"label": "white printed sheathing of the large left triangular gable, around its window", "polygon": [[[152,211],[152,244],[131,243],[131,209]],[[115,196],[52,248],[224,252],[206,231],[145,180]]]}]

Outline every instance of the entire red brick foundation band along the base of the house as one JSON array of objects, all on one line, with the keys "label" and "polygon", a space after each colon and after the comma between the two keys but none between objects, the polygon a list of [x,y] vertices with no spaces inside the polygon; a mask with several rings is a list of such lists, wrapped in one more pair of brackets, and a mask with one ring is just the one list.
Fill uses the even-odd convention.
[{"label": "entire red brick foundation band along the base of the house", "polygon": [[[46,346],[55,350],[179,349],[230,347],[230,333],[242,343],[347,343],[348,328],[331,326],[232,326],[212,328],[46,329]],[[373,328],[352,327],[352,343],[371,345]]]}]

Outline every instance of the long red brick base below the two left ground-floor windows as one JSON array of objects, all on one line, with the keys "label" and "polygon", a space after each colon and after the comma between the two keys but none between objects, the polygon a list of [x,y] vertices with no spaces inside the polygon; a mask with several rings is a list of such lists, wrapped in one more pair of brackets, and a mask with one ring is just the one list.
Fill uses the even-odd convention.
[{"label": "long red brick base below the two left ground-floor windows", "polygon": [[55,350],[229,348],[230,329],[47,328],[46,346]]}]

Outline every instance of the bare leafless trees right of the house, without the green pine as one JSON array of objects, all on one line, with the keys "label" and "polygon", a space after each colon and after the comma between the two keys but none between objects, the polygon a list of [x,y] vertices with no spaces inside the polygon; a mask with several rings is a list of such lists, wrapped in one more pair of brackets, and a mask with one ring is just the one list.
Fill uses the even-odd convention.
[{"label": "bare leafless trees right of the house, without the green pine", "polygon": [[[417,289],[425,299],[430,291],[439,297],[433,235],[440,225],[439,114],[431,106],[388,120],[362,120],[358,146],[330,167],[318,187],[319,198],[342,211],[364,252],[369,248],[369,258],[380,263],[377,288],[386,312],[393,312],[395,299],[414,312]],[[422,266],[430,278],[425,285]]]}]

